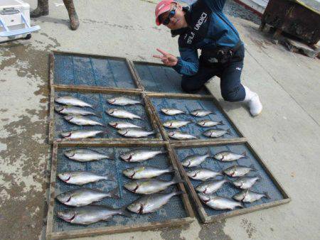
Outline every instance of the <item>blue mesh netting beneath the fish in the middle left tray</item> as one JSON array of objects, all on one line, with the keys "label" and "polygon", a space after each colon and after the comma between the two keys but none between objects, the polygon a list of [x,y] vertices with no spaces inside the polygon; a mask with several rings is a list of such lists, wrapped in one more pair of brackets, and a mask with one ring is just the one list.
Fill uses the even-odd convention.
[{"label": "blue mesh netting beneath the fish in the middle left tray", "polygon": [[[55,111],[55,131],[54,131],[54,138],[60,138],[60,133],[63,131],[75,131],[75,130],[102,130],[105,131],[104,133],[100,134],[99,136],[95,137],[97,138],[124,138],[123,136],[119,135],[117,133],[117,129],[114,129],[112,126],[110,126],[108,123],[110,121],[128,121],[132,124],[136,124],[138,126],[142,126],[144,129],[151,131],[152,126],[150,124],[150,120],[146,114],[146,110],[144,109],[144,106],[141,104],[136,104],[132,106],[115,106],[112,104],[109,104],[107,102],[107,99],[110,99],[112,97],[120,97],[124,96],[124,94],[88,94],[88,93],[77,93],[77,92],[64,92],[64,91],[56,91],[55,97],[63,97],[63,96],[71,96],[76,97],[82,101],[87,102],[88,104],[92,104],[94,109],[85,108],[90,111],[94,111],[98,116],[86,116],[92,120],[99,121],[102,124],[105,124],[106,127],[103,126],[78,126],[75,124],[71,124],[65,119],[63,119],[63,115],[58,114]],[[142,98],[140,95],[126,95],[125,97],[129,97],[131,99],[141,100]],[[55,103],[56,105],[59,105]],[[127,111],[130,111],[134,114],[137,114],[138,116],[141,116],[142,119],[118,119],[116,117],[110,116],[105,112],[106,109],[110,108],[119,108],[119,109],[125,109]],[[148,138],[155,138],[155,135],[148,136]]]}]

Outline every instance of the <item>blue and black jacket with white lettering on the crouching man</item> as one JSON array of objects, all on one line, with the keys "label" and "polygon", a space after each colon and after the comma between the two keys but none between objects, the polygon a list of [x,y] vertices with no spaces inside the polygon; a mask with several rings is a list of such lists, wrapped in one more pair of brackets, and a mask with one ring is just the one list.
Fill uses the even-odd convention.
[{"label": "blue and black jacket with white lettering on the crouching man", "polygon": [[225,0],[198,0],[186,12],[188,28],[178,39],[180,58],[174,70],[181,75],[195,75],[199,68],[198,49],[235,47],[239,33],[223,13]]}]

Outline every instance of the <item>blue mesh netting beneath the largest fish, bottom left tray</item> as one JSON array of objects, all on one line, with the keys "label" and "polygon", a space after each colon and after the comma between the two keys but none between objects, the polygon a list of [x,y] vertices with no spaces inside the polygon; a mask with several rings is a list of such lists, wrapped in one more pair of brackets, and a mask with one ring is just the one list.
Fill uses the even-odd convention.
[{"label": "blue mesh netting beneath the largest fish, bottom left tray", "polygon": [[[122,175],[122,170],[130,167],[134,167],[137,165],[153,165],[158,166],[159,168],[169,168],[171,165],[166,153],[160,154],[150,160],[146,160],[142,163],[127,163],[119,158],[121,153],[131,151],[137,148],[118,148],[118,147],[102,147],[102,148],[90,148],[95,151],[99,151],[100,153],[107,153],[110,155],[114,155],[114,160],[97,160],[91,161],[87,163],[80,163],[75,160],[69,160],[64,156],[64,152],[73,148],[58,148],[58,165],[57,165],[57,174],[65,171],[73,171],[73,170],[87,170],[92,171],[101,175],[105,175],[108,173],[112,173],[117,180],[117,182],[110,182],[106,180],[101,180],[95,183],[89,183],[87,185],[83,185],[84,187],[97,188],[103,191],[110,191],[115,187],[119,187],[119,195],[121,199],[115,200],[112,198],[105,198],[100,202],[96,202],[95,204],[106,204],[110,207],[119,208],[126,206],[137,200],[141,195],[136,195],[128,190],[124,189],[123,185],[125,182],[130,181],[124,175]],[[154,147],[141,147],[139,149],[164,149],[164,148],[154,148]],[[171,180],[173,178],[173,174],[165,174],[161,175],[159,178],[163,180]],[[76,188],[80,188],[77,185],[68,185],[67,183],[61,181],[58,176],[55,179],[55,194],[58,195],[62,192],[66,192],[68,190],[73,190]],[[173,190],[177,190],[175,186],[171,186],[166,189],[164,192],[171,192]],[[183,217],[187,217],[186,212],[183,207],[183,202],[181,196],[174,196],[171,200],[161,207],[157,212],[152,214],[135,214],[132,213],[132,217],[122,217],[122,216],[114,216],[110,221],[107,222],[97,222],[95,224],[90,224],[89,226],[81,226],[77,224],[70,224],[68,222],[63,221],[56,217],[56,213],[58,211],[68,209],[68,206],[65,206],[55,200],[54,205],[54,217],[53,217],[53,231],[70,231],[70,230],[80,230],[80,229],[95,229],[100,227],[110,227],[110,226],[121,226],[127,224],[143,224],[147,222],[162,222],[169,219],[181,219]]]}]

